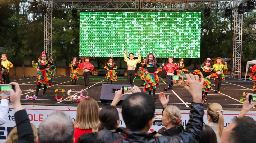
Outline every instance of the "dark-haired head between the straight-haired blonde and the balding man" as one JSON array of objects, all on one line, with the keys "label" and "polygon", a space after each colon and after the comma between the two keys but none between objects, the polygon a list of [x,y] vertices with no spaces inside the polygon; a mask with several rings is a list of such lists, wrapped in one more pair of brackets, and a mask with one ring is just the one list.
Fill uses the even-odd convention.
[{"label": "dark-haired head between the straight-haired blonde and the balding man", "polygon": [[116,131],[120,124],[120,117],[115,106],[105,106],[100,110],[99,119],[101,126],[99,131],[107,129],[110,131]]}]

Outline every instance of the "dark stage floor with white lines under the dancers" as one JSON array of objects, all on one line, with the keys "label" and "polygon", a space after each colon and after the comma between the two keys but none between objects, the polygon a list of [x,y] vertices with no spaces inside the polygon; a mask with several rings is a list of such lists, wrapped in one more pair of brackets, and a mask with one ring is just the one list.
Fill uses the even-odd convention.
[{"label": "dark stage floor with white lines under the dancers", "polygon": [[[165,81],[166,78],[160,78],[160,85],[156,88],[156,96],[158,96],[160,92],[164,92],[165,95],[170,95],[170,101],[168,105],[176,105],[181,110],[190,109],[189,106],[192,102],[192,96],[188,93],[188,91],[186,91],[183,86],[174,86],[173,90],[164,91]],[[40,94],[43,92],[43,88],[41,88],[39,90],[39,96],[37,97],[37,100],[25,100],[25,96],[27,95],[26,92],[28,89],[32,88],[36,90],[36,77],[14,80],[13,82],[18,82],[20,85],[22,90],[21,104],[23,105],[77,106],[78,103],[76,101],[56,101],[54,99],[54,91],[60,88],[64,89],[65,92],[67,92],[69,89],[74,89],[75,91],[72,91],[72,94],[75,94],[80,92],[81,89],[85,89],[83,76],[80,76],[76,85],[71,84],[69,75],[55,76],[54,79],[52,79],[53,85],[47,88],[47,96],[40,96]],[[213,79],[211,79],[211,82],[214,89],[215,87]],[[95,99],[99,103],[100,107],[102,107],[100,102],[102,83],[106,83],[106,78],[102,76],[90,76],[90,88],[86,89],[88,96]],[[114,81],[113,84],[126,84],[126,77],[118,76],[118,81]],[[141,90],[143,89],[143,86],[141,86],[141,79],[139,77],[134,79],[134,85],[137,85]],[[226,77],[226,80],[222,81],[220,92],[215,93],[214,90],[211,90],[208,93],[208,101],[204,104],[204,107],[207,109],[210,103],[216,102],[221,104],[224,110],[241,110],[242,104],[240,104],[239,99],[243,95],[243,92],[252,92],[253,85],[254,82],[252,81]],[[28,94],[31,95],[32,93]],[[62,93],[59,92],[58,94],[61,95]],[[86,95],[85,91],[83,91],[83,95]],[[67,95],[65,95],[65,98],[67,98]],[[120,106],[117,106],[117,108],[120,108]],[[156,98],[156,108],[162,109],[158,97]],[[252,110],[256,111],[256,109]]]}]

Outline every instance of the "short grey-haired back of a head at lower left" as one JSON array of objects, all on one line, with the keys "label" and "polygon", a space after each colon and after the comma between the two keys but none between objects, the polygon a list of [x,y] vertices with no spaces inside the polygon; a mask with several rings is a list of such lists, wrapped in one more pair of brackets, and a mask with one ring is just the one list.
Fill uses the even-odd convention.
[{"label": "short grey-haired back of a head at lower left", "polygon": [[49,115],[38,128],[39,143],[72,143],[74,124],[63,112]]}]

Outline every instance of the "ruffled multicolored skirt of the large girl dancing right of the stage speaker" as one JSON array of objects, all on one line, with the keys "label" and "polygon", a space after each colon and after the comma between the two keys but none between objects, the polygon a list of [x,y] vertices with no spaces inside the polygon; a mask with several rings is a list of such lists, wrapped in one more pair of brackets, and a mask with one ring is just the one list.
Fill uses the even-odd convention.
[{"label": "ruffled multicolored skirt of the large girl dancing right of the stage speaker", "polygon": [[160,80],[156,73],[146,74],[143,91],[150,91],[156,89],[156,86],[160,85],[159,82]]}]

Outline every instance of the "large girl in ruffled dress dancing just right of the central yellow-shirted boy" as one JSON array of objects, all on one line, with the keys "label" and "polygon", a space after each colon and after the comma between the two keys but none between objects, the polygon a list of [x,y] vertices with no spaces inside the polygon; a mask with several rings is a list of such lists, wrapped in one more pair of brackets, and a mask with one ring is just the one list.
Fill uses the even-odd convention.
[{"label": "large girl in ruffled dress dancing just right of the central yellow-shirted boy", "polygon": [[[157,70],[155,70],[155,66],[158,67]],[[147,69],[145,69],[146,67]],[[156,98],[156,86],[158,86],[160,82],[157,73],[162,71],[162,67],[157,64],[155,54],[148,54],[146,64],[143,65],[141,71],[146,73],[143,91],[148,91],[151,95],[151,90],[153,90],[153,96]]]}]

